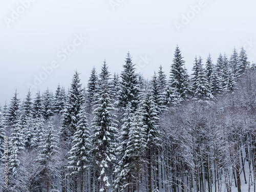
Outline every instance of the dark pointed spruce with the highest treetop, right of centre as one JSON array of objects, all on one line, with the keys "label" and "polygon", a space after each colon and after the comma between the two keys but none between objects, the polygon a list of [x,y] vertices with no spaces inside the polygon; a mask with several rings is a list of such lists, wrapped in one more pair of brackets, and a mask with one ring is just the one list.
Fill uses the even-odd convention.
[{"label": "dark pointed spruce with the highest treetop, right of centre", "polygon": [[176,47],[174,53],[173,64],[170,70],[169,84],[172,88],[175,88],[182,99],[187,97],[188,92],[188,75],[184,68],[185,61],[181,56],[179,47]]}]

